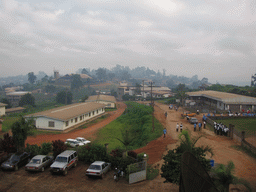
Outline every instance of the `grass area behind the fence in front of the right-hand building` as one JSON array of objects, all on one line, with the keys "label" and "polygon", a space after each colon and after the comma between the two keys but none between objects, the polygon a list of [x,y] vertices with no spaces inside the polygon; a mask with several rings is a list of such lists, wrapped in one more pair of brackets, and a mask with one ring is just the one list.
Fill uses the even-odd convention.
[{"label": "grass area behind the fence in front of the right-hand building", "polygon": [[255,131],[256,118],[230,118],[215,121],[217,123],[221,122],[226,126],[229,126],[229,124],[235,125],[235,129],[239,131],[247,131],[246,135]]}]

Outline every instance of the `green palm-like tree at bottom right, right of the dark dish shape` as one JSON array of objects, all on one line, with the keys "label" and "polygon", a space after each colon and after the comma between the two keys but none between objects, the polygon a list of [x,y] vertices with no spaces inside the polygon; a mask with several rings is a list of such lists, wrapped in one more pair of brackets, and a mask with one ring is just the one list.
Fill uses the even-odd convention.
[{"label": "green palm-like tree at bottom right, right of the dark dish shape", "polygon": [[241,178],[234,176],[235,165],[233,161],[229,161],[227,165],[218,164],[212,169],[212,177],[215,185],[221,192],[228,192],[230,184],[242,184],[251,191],[250,184]]}]

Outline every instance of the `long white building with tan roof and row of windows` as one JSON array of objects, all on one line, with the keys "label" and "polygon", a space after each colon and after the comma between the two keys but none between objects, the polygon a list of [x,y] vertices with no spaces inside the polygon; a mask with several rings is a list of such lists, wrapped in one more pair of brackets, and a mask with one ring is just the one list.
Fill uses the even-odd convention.
[{"label": "long white building with tan roof and row of windows", "polygon": [[105,113],[101,103],[75,103],[25,116],[34,118],[38,129],[64,131]]}]

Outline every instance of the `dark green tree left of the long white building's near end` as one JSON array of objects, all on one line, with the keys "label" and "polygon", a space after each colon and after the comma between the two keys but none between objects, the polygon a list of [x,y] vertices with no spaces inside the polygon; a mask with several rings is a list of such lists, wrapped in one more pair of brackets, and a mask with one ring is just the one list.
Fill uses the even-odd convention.
[{"label": "dark green tree left of the long white building's near end", "polygon": [[20,117],[20,119],[14,122],[11,126],[12,136],[15,146],[18,151],[23,151],[25,148],[25,141],[31,130],[35,128],[33,119],[25,119]]}]

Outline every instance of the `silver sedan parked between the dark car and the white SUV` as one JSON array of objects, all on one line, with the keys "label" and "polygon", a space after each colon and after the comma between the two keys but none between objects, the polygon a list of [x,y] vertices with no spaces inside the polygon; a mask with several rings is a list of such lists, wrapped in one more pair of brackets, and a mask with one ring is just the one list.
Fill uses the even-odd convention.
[{"label": "silver sedan parked between the dark car and the white SUV", "polygon": [[53,163],[53,156],[37,155],[25,166],[26,171],[44,171]]}]

